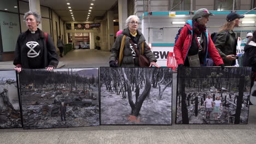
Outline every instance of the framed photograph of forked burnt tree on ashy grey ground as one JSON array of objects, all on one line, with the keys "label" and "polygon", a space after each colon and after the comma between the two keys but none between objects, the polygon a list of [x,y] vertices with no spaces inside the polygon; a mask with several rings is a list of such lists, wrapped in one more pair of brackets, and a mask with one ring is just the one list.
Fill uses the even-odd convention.
[{"label": "framed photograph of forked burnt tree on ashy grey ground", "polygon": [[172,68],[100,68],[102,125],[171,125]]}]

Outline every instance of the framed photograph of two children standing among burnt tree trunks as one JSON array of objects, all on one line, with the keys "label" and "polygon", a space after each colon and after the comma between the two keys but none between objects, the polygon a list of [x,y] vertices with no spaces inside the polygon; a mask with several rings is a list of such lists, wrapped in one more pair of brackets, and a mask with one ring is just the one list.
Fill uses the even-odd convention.
[{"label": "framed photograph of two children standing among burnt tree trunks", "polygon": [[247,124],[251,68],[181,68],[176,124]]}]

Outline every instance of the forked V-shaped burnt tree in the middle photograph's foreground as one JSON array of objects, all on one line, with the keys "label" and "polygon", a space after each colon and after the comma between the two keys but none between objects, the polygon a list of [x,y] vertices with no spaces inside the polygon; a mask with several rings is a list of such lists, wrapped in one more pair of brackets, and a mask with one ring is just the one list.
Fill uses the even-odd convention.
[{"label": "forked V-shaped burnt tree in the middle photograph's foreground", "polygon": [[142,94],[139,95],[139,97],[137,98],[137,101],[135,103],[133,103],[133,100],[132,100],[132,91],[131,91],[131,86],[130,86],[130,80],[127,78],[125,68],[121,68],[121,70],[123,71],[123,77],[124,77],[125,83],[127,85],[128,100],[129,100],[129,104],[131,106],[131,115],[137,117],[139,115],[139,111],[141,110],[144,100],[146,99],[147,95],[150,93],[150,91],[149,91],[149,89],[151,87],[150,77],[152,77],[155,69],[144,70],[144,74],[147,75],[145,88],[144,88]]}]

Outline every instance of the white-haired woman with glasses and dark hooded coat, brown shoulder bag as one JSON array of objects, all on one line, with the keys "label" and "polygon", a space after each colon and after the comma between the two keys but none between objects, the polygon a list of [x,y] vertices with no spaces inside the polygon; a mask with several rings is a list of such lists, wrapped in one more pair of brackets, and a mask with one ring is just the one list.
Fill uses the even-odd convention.
[{"label": "white-haired woman with glasses and dark hooded coat, brown shoulder bag", "polygon": [[[156,64],[156,58],[153,52],[149,49],[146,44],[146,40],[143,34],[138,31],[139,18],[136,15],[131,15],[126,20],[126,26],[123,32],[118,35],[117,40],[111,49],[111,54],[109,58],[110,67],[139,67],[138,65],[138,55],[145,56],[149,62],[149,67],[153,65],[159,67]],[[131,41],[130,41],[131,39]],[[137,47],[139,53],[133,49],[133,44]],[[121,45],[123,44],[123,45]],[[120,52],[121,51],[121,52]]]}]

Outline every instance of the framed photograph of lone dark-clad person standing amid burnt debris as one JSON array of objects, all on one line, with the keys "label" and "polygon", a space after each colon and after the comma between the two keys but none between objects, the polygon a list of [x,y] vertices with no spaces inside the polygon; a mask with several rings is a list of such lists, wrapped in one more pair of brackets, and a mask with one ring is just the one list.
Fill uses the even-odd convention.
[{"label": "framed photograph of lone dark-clad person standing amid burnt debris", "polygon": [[98,69],[22,69],[24,129],[100,125]]}]

